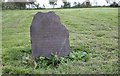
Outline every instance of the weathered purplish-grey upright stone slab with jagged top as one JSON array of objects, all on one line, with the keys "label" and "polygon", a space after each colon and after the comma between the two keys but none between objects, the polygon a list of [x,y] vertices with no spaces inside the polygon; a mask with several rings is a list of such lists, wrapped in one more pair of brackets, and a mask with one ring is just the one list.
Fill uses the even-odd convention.
[{"label": "weathered purplish-grey upright stone slab with jagged top", "polygon": [[51,54],[67,56],[70,53],[69,32],[54,12],[38,12],[30,27],[32,57]]}]

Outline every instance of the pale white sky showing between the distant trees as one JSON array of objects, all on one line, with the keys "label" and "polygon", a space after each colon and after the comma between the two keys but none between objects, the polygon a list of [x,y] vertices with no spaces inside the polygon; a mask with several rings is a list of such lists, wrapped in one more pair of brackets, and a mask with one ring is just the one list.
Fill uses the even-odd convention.
[{"label": "pale white sky showing between the distant trees", "polygon": [[[80,2],[82,4],[85,0],[67,0],[67,1],[71,3],[71,6],[73,6],[74,2]],[[119,2],[120,0],[111,0],[111,1]],[[37,2],[40,3],[41,7],[43,6],[43,4],[45,5],[46,8],[52,7],[51,5],[49,5],[49,0],[37,0]],[[100,6],[108,5],[105,0],[90,0],[90,2],[93,6],[96,5],[96,3],[97,5]],[[58,0],[56,7],[61,7],[61,5],[63,5],[62,0]]]}]

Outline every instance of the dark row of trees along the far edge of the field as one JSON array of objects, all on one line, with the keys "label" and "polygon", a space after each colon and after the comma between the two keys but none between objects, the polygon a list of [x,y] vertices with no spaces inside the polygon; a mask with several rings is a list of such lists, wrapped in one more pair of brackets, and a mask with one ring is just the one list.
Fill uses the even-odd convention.
[{"label": "dark row of trees along the far edge of the field", "polygon": [[[58,0],[49,0],[49,4],[54,8],[57,5]],[[85,0],[82,4],[80,2],[74,2],[74,5],[71,7],[71,3],[67,0],[62,0],[64,5],[61,5],[61,8],[85,8],[85,7],[92,7],[89,0]],[[107,3],[110,4],[110,0],[106,0]],[[97,4],[97,3],[96,3]],[[40,7],[40,4],[36,2],[36,0],[30,0],[26,2],[4,2],[4,0],[1,2],[2,9],[43,9],[45,8],[45,5],[43,7]],[[26,8],[26,5],[29,7]],[[118,3],[114,2],[110,4],[109,7],[119,7]]]}]

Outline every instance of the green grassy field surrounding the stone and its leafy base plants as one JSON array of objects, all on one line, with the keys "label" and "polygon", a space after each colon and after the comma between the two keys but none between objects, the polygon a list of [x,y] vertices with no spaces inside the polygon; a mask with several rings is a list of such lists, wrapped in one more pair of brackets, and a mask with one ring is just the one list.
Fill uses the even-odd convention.
[{"label": "green grassy field surrounding the stone and its leafy base plants", "polygon": [[[32,18],[37,12],[48,11],[55,11],[69,30],[71,51],[87,52],[89,54],[87,61],[66,59],[67,62],[60,64],[57,68],[34,68],[30,62],[23,63],[23,57],[26,57],[26,54],[31,56],[30,25]],[[3,10],[2,72],[12,74],[118,73],[117,41],[117,8]],[[41,64],[38,63],[38,65]]]}]

